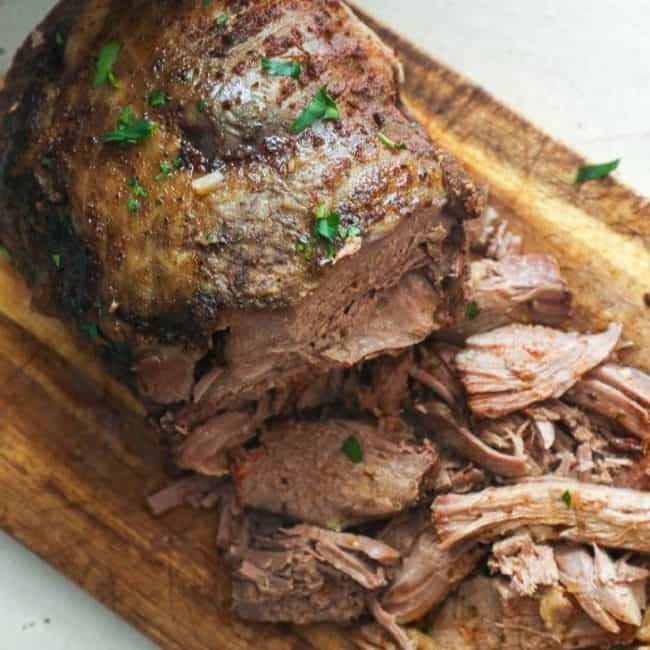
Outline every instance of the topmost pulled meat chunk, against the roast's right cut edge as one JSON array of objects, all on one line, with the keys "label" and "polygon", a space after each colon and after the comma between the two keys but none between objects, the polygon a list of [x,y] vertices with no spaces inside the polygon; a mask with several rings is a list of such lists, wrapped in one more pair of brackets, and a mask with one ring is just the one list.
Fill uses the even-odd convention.
[{"label": "topmost pulled meat chunk, against the roast's right cut edge", "polygon": [[548,255],[473,262],[467,291],[478,314],[461,315],[453,331],[463,336],[511,322],[559,326],[571,313],[571,292],[555,258]]}]

